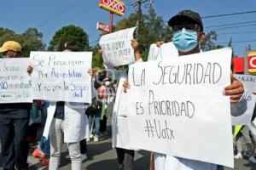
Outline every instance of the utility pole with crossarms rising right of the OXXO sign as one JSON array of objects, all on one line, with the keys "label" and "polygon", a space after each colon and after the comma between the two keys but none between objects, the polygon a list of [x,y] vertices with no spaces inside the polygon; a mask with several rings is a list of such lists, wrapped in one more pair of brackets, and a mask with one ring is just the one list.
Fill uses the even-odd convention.
[{"label": "utility pole with crossarms rising right of the OXXO sign", "polygon": [[136,30],[136,34],[137,34],[137,40],[139,37],[139,33],[140,33],[140,27],[141,27],[141,18],[143,15],[142,12],[142,5],[145,4],[145,6],[147,7],[148,5],[152,5],[153,0],[136,0],[135,3],[132,3],[131,5],[133,5],[135,8],[137,8],[137,30]]}]

